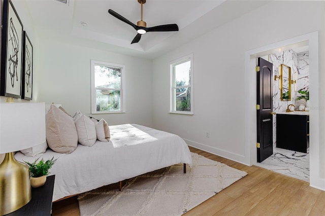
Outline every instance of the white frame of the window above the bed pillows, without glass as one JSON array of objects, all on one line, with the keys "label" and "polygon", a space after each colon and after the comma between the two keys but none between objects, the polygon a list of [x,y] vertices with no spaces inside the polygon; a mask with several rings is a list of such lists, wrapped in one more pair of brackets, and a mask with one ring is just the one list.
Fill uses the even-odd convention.
[{"label": "white frame of the window above the bed pillows, without glass", "polygon": [[[119,111],[96,111],[96,89],[95,88],[95,65],[101,65],[106,67],[121,68],[121,88],[104,88],[108,90],[119,90],[120,91],[120,110]],[[109,113],[125,113],[125,65],[116,64],[105,61],[90,60],[90,71],[91,71],[91,114],[109,114]]]}]

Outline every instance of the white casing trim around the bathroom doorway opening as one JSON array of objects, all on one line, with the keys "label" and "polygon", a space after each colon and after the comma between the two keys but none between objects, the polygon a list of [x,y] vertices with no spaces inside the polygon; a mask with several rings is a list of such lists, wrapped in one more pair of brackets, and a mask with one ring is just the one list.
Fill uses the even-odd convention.
[{"label": "white casing trim around the bathroom doorway opening", "polygon": [[[245,52],[245,160],[244,163],[256,163],[256,73],[255,58],[271,54],[274,49],[294,46],[295,44],[309,45],[309,83],[310,83],[310,186],[325,190],[325,179],[321,178],[319,160],[319,70],[318,70],[318,31],[307,33],[292,39],[277,42],[264,47]],[[322,153],[323,155],[324,153]]]}]

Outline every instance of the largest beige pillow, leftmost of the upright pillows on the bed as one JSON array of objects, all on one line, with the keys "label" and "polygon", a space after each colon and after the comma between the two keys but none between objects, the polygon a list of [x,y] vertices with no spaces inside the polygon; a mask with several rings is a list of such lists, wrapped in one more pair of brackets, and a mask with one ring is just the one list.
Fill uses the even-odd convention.
[{"label": "largest beige pillow, leftmost of the upright pillows on the bed", "polygon": [[51,105],[46,114],[47,145],[58,153],[70,154],[77,148],[78,134],[71,116]]}]

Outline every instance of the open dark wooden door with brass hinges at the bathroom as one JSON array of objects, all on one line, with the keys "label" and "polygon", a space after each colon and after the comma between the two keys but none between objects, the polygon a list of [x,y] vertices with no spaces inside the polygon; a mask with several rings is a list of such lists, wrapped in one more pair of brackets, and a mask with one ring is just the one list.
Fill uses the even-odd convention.
[{"label": "open dark wooden door with brass hinges at the bathroom", "polygon": [[[257,162],[262,162],[273,154],[273,65],[258,58],[257,98]],[[258,145],[259,143],[259,145]]]}]

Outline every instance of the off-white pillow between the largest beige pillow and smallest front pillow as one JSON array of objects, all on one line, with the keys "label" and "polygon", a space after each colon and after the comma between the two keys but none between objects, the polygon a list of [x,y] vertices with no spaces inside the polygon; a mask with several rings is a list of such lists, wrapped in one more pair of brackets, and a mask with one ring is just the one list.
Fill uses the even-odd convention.
[{"label": "off-white pillow between the largest beige pillow and smallest front pillow", "polygon": [[92,146],[96,141],[96,129],[93,121],[88,116],[80,113],[74,115],[74,120],[78,133],[78,141],[83,146]]}]

